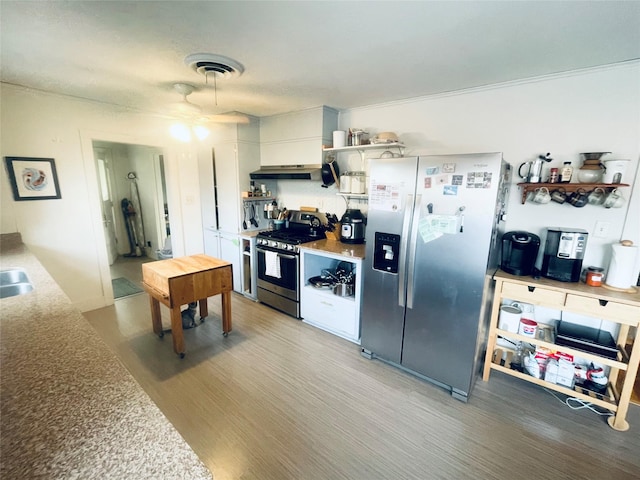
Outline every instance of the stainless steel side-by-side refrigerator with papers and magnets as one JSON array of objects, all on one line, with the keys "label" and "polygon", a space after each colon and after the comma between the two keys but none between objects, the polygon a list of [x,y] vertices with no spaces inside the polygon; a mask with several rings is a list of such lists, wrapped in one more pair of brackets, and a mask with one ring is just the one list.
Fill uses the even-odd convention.
[{"label": "stainless steel side-by-side refrigerator with papers and magnets", "polygon": [[466,401],[504,230],[501,153],[370,160],[362,354]]}]

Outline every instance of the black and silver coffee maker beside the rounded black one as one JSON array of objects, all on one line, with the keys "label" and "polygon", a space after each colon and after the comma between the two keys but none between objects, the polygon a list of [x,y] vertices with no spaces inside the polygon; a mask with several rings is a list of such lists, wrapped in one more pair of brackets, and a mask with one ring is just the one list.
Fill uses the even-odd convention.
[{"label": "black and silver coffee maker beside the rounded black one", "polygon": [[547,228],[542,276],[560,282],[578,282],[589,234],[586,230]]}]

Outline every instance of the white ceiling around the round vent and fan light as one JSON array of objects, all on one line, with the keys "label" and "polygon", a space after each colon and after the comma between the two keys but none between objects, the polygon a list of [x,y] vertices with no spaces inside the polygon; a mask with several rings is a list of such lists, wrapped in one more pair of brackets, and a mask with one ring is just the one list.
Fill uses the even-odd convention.
[{"label": "white ceiling around the round vent and fan light", "polygon": [[[0,1],[2,82],[161,111],[338,109],[640,58],[638,1]],[[212,85],[192,53],[245,72]],[[211,83],[211,81],[209,82]]]}]

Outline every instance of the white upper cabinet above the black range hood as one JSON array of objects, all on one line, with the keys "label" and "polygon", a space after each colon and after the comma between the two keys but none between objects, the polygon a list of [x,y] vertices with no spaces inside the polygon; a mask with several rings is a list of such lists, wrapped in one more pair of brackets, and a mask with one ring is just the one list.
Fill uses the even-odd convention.
[{"label": "white upper cabinet above the black range hood", "polygon": [[326,106],[262,117],[260,164],[319,166],[337,128],[338,111]]}]

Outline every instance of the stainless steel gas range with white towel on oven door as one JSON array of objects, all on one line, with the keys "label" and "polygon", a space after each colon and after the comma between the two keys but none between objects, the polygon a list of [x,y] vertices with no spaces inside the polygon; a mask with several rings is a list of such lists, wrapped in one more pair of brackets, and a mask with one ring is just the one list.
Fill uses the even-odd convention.
[{"label": "stainless steel gas range with white towel on oven door", "polygon": [[289,226],[256,236],[258,300],[300,318],[299,245],[325,238],[324,213],[292,210]]}]

